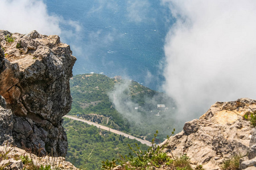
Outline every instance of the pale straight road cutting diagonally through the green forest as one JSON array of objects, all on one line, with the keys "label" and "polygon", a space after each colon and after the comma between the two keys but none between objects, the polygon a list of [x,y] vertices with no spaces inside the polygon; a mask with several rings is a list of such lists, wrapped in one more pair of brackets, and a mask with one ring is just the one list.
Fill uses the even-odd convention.
[{"label": "pale straight road cutting diagonally through the green forest", "polygon": [[146,144],[147,146],[151,146],[151,145],[152,145],[151,142],[149,142],[149,141],[136,138],[136,137],[134,137],[134,136],[132,136],[132,135],[123,133],[122,131],[114,130],[114,129],[111,129],[111,128],[106,127],[106,126],[102,126],[102,125],[100,125],[100,124],[96,124],[96,123],[94,123],[94,122],[86,121],[86,120],[84,120],[84,119],[77,118],[77,117],[73,117],[73,116],[67,116],[67,115],[66,115],[66,116],[64,116],[64,117],[71,118],[71,119],[73,119],[73,120],[77,120],[77,121],[81,121],[81,122],[85,122],[86,124],[96,126],[97,128],[104,129],[104,130],[108,130],[108,131],[111,131],[111,132],[113,132],[113,133],[115,133],[115,134],[118,134],[118,135],[123,135],[124,137],[129,138],[129,139],[136,139],[137,141],[141,142],[142,144]]}]

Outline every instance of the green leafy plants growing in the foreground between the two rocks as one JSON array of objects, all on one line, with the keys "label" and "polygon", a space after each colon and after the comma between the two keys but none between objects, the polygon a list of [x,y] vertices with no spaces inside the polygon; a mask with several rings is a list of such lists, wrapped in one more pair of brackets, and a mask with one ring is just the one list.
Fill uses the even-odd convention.
[{"label": "green leafy plants growing in the foreground between the two rocks", "polygon": [[[174,129],[175,131],[175,129]],[[172,131],[171,135],[174,134]],[[127,169],[171,169],[171,170],[193,170],[191,167],[189,158],[187,155],[182,155],[179,158],[174,156],[168,156],[164,152],[165,146],[160,147],[159,145],[154,145],[157,137],[158,131],[154,134],[152,139],[151,147],[148,147],[147,151],[142,151],[141,147],[136,145],[136,148],[129,146],[130,150],[135,154],[134,155],[121,155],[121,159],[111,161],[106,160],[102,161],[102,169],[111,170],[114,167],[117,167],[117,163],[121,164],[121,167],[118,169],[127,170]],[[167,136],[167,142],[170,138]],[[202,165],[197,165],[195,169],[204,170]]]}]

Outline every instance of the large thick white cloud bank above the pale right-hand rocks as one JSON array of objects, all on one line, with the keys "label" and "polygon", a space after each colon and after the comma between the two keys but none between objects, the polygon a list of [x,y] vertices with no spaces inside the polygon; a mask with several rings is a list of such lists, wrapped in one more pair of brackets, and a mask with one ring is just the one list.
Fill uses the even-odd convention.
[{"label": "large thick white cloud bank above the pale right-hand rocks", "polygon": [[256,99],[256,2],[162,2],[176,19],[164,45],[163,88],[177,118],[199,118],[216,101]]}]

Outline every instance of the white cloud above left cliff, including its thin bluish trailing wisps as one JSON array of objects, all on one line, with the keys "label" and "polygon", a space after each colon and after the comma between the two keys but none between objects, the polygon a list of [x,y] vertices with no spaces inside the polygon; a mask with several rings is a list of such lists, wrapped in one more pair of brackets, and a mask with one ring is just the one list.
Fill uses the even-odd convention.
[{"label": "white cloud above left cliff, including its thin bluish trailing wisps", "polygon": [[[81,54],[79,22],[64,19],[62,16],[49,14],[42,0],[2,0],[0,1],[0,29],[10,32],[29,33],[36,30],[44,35],[59,35],[61,41],[69,41],[72,50]],[[62,29],[68,26],[70,29]]]}]

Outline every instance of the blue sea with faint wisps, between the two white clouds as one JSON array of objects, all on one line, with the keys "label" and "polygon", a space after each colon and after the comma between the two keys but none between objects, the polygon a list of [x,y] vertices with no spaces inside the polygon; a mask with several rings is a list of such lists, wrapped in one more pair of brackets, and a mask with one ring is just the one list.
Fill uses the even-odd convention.
[{"label": "blue sea with faint wisps, between the two white clouds", "polygon": [[77,57],[74,75],[121,75],[160,90],[165,37],[174,23],[167,6],[158,0],[44,2],[51,15],[65,20],[60,25],[69,36],[61,41],[71,45]]}]

